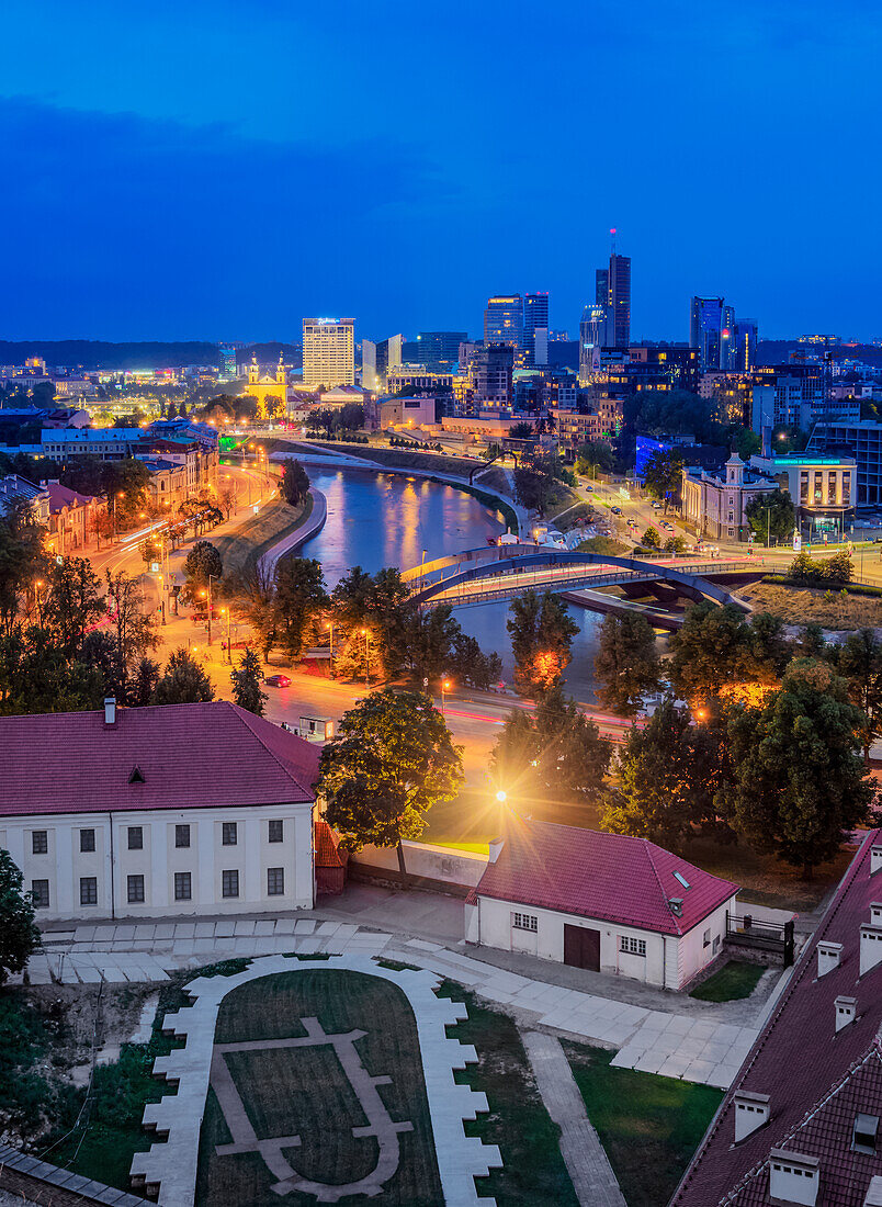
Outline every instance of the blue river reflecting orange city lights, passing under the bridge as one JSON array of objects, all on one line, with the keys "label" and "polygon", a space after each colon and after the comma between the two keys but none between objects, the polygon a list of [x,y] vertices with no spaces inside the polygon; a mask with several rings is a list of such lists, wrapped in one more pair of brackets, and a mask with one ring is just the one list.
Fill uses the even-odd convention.
[{"label": "blue river reflecting orange city lights, passing under the bridge", "polygon": [[[352,566],[372,573],[384,566],[408,570],[422,560],[477,549],[487,537],[504,532],[502,515],[455,486],[404,474],[320,470],[310,466],[313,485],[328,501],[325,527],[303,547],[303,556],[317,558],[328,588]],[[502,677],[513,678],[512,646],[506,629],[507,604],[456,608],[462,629],[477,637],[483,649],[502,658]],[[601,617],[571,607],[579,625],[573,639],[573,660],[565,680],[578,699],[594,700],[594,657]]]}]

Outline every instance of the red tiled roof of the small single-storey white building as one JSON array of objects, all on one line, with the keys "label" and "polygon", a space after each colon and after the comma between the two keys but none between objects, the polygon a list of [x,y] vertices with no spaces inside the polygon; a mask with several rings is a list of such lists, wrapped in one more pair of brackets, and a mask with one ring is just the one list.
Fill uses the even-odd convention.
[{"label": "red tiled roof of the small single-storey white building", "polygon": [[[479,897],[662,934],[685,934],[737,891],[646,839],[521,817],[509,818],[502,851],[477,890]],[[682,917],[668,904],[676,897]]]}]

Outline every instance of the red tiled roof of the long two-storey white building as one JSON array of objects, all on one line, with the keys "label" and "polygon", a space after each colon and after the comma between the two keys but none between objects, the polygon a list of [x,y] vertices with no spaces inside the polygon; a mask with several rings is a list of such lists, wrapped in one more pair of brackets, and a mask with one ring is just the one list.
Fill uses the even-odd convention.
[{"label": "red tiled roof of the long two-storey white building", "polygon": [[311,801],[317,772],[317,747],[227,700],[0,718],[0,816]]}]

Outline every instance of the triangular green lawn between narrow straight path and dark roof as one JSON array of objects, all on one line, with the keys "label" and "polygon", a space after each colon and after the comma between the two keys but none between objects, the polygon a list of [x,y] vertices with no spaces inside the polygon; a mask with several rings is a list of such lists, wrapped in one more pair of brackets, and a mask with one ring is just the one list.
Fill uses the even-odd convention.
[{"label": "triangular green lawn between narrow straight path and dark roof", "polygon": [[563,1040],[563,1051],[629,1207],[666,1203],[723,1091],[612,1068],[613,1053]]}]

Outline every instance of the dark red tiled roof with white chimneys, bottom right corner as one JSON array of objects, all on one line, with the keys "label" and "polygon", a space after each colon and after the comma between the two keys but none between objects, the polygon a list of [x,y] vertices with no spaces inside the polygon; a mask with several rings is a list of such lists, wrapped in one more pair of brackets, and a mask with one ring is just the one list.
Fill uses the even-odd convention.
[{"label": "dark red tiled roof with white chimneys, bottom right corner", "polygon": [[[767,1173],[761,1174],[761,1170],[770,1150],[785,1147],[802,1151],[804,1145],[813,1145],[805,1150],[820,1158],[824,1207],[861,1207],[870,1177],[864,1177],[866,1159],[857,1160],[851,1150],[851,1130],[846,1135],[845,1123],[839,1125],[833,1107],[826,1109],[820,1104],[842,1083],[840,1104],[851,1103],[852,1097],[857,1103],[859,1098],[866,1106],[855,1106],[857,1110],[882,1115],[882,1073],[871,1060],[865,1074],[848,1081],[851,1097],[845,1094],[847,1073],[855,1062],[869,1060],[882,1022],[882,964],[859,976],[860,926],[870,921],[870,903],[882,899],[882,871],[870,875],[870,849],[881,835],[882,830],[868,833],[842,877],[671,1200],[672,1207],[765,1205],[769,1200],[763,1197],[763,1177],[767,1183]],[[817,946],[822,940],[841,943],[842,952],[839,967],[818,979]],[[834,1026],[837,997],[858,1001],[855,1020],[839,1033]],[[769,1124],[737,1148],[732,1143],[736,1090],[771,1097]],[[806,1115],[813,1115],[816,1108],[817,1121],[806,1121]],[[851,1120],[854,1121],[853,1114]],[[872,1165],[872,1173],[882,1173],[880,1159],[874,1159]],[[752,1171],[760,1172],[744,1183]]]}]

